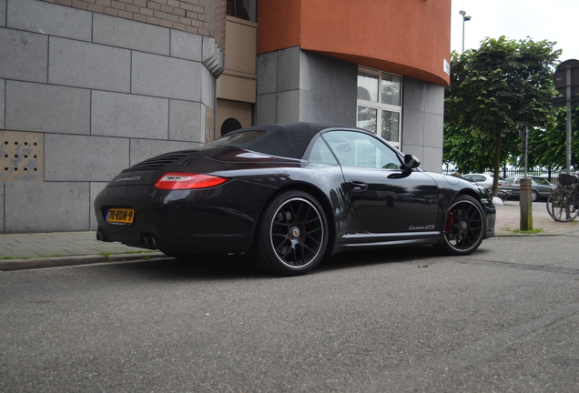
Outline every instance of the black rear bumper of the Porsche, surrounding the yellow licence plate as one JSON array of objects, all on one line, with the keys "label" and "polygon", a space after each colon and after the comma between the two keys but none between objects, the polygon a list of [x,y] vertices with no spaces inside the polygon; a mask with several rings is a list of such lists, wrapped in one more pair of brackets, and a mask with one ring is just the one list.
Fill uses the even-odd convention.
[{"label": "black rear bumper of the Porsche, surrounding the yellow licence plate", "polygon": [[[255,185],[249,192],[247,184],[236,181],[196,191],[107,187],[95,200],[97,234],[103,241],[173,254],[247,252],[267,192],[268,187],[256,192]],[[133,208],[134,222],[107,223],[110,207]]]}]

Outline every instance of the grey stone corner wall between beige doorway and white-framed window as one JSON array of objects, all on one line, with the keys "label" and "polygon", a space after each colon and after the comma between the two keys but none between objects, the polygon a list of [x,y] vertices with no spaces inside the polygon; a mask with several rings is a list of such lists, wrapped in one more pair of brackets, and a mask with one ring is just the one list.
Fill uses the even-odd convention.
[{"label": "grey stone corner wall between beige doorway and white-framed window", "polygon": [[294,46],[258,56],[256,123],[356,125],[358,65]]}]

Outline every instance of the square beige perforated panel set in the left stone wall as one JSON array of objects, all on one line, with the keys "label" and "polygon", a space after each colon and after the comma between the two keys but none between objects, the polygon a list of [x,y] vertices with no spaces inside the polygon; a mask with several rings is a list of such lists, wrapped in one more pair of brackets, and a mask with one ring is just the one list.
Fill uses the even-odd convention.
[{"label": "square beige perforated panel set in the left stone wall", "polygon": [[0,181],[44,181],[45,135],[0,131]]}]

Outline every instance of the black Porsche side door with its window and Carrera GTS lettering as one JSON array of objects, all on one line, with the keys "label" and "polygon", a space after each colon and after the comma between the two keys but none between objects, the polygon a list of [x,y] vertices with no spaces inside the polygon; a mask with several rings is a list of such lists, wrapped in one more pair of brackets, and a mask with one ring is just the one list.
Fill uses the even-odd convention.
[{"label": "black Porsche side door with its window and Carrera GTS lettering", "polygon": [[340,162],[344,187],[361,225],[377,234],[432,231],[438,186],[420,170],[407,170],[391,146],[371,134],[322,135]]}]

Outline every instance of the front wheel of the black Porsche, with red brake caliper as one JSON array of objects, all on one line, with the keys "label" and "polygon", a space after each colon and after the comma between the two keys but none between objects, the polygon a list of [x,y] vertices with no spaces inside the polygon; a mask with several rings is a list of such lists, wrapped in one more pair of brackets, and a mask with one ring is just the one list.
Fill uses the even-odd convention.
[{"label": "front wheel of the black Porsche, with red brake caliper", "polygon": [[444,240],[434,247],[448,255],[468,255],[481,245],[485,232],[481,204],[472,196],[458,196],[444,218]]}]

